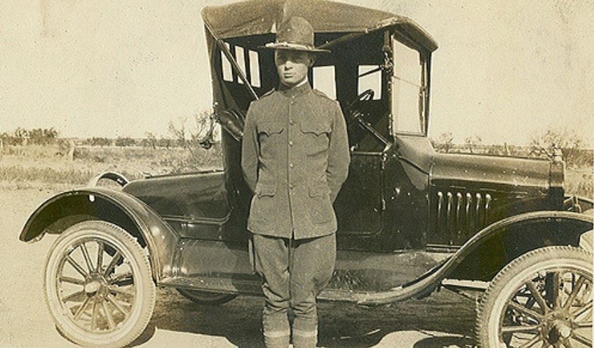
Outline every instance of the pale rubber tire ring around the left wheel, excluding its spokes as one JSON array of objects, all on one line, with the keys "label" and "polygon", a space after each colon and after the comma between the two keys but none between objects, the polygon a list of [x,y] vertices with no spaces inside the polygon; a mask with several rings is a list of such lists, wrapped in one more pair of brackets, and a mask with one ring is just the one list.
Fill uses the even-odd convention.
[{"label": "pale rubber tire ring around the left wheel, excluding its spokes", "polygon": [[[95,334],[80,328],[62,309],[56,281],[60,258],[73,243],[95,238],[112,243],[130,260],[135,284],[135,300],[128,318],[113,333]],[[86,221],[69,227],[55,240],[46,258],[43,282],[46,304],[58,330],[72,342],[84,347],[123,347],[133,342],[151,318],[156,288],[151,277],[149,259],[135,238],[116,225],[103,221]]]}]

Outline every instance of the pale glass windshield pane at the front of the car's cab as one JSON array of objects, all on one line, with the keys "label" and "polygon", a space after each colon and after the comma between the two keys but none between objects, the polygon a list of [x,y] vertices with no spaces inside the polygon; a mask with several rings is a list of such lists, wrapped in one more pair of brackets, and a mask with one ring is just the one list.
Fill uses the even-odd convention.
[{"label": "pale glass windshield pane at the front of the car's cab", "polygon": [[416,51],[392,39],[391,76],[393,129],[396,133],[425,135],[425,63]]}]

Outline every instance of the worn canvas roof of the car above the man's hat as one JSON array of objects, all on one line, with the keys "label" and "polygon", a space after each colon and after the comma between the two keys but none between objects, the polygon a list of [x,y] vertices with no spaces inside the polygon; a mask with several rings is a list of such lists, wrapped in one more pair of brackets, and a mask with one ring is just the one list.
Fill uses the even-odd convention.
[{"label": "worn canvas roof of the car above the man's hat", "polygon": [[202,18],[219,39],[276,33],[285,19],[303,17],[315,32],[368,32],[399,27],[428,51],[436,41],[417,23],[402,15],[327,0],[248,0],[203,8]]}]

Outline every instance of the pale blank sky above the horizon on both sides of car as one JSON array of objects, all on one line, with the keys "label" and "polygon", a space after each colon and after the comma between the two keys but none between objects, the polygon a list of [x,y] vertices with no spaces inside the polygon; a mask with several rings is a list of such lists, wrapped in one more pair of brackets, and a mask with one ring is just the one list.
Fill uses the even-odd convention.
[{"label": "pale blank sky above the horizon on both sides of car", "polygon": [[[0,133],[167,135],[211,108],[200,11],[231,1],[0,2]],[[406,15],[438,41],[429,135],[594,145],[594,0],[344,0]]]}]

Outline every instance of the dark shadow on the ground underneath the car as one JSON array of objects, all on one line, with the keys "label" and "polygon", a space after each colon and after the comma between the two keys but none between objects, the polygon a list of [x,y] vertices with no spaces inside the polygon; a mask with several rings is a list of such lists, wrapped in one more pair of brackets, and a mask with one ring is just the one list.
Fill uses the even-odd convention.
[{"label": "dark shadow on the ground underneath the car", "polygon": [[[174,289],[159,289],[149,328],[133,345],[150,340],[155,328],[224,337],[241,348],[262,344],[260,297],[237,297],[219,306],[194,304]],[[396,342],[418,337],[414,348],[472,347],[474,304],[451,293],[381,307],[323,302],[318,306],[320,347],[407,347]],[[435,333],[438,333],[436,335]],[[394,340],[394,341],[393,341]]]}]

